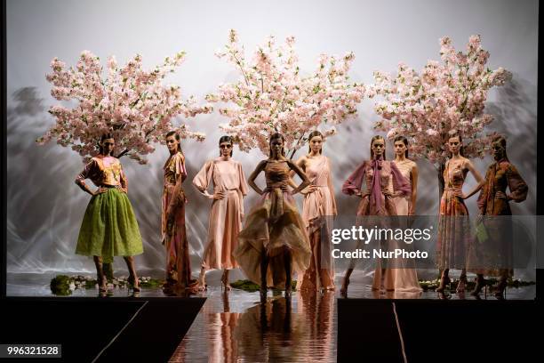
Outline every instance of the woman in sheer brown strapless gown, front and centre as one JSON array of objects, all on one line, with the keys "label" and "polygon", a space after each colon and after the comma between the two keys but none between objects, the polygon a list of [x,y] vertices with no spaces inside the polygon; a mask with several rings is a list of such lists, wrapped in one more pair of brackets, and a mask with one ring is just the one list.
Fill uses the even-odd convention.
[{"label": "woman in sheer brown strapless gown, front and centre", "polygon": [[[284,157],[284,136],[270,137],[270,157],[257,165],[249,185],[262,197],[252,207],[238,235],[236,261],[245,275],[260,284],[261,298],[266,299],[268,286],[292,292],[292,273],[306,270],[311,258],[308,234],[297,210],[293,194],[306,188],[308,177],[291,160]],[[302,182],[289,191],[289,173],[294,171]],[[267,188],[260,190],[255,179],[265,173]]]}]

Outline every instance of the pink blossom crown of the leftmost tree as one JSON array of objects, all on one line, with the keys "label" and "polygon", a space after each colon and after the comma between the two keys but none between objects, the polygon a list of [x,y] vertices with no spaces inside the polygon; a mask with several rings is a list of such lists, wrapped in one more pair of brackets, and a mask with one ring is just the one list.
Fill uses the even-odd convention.
[{"label": "pink blossom crown of the leftmost tree", "polygon": [[180,137],[203,141],[203,133],[191,133],[186,125],[172,124],[178,115],[195,117],[212,112],[211,105],[200,106],[194,97],[183,101],[180,86],[163,84],[164,77],[174,72],[184,59],[185,52],[178,52],[164,59],[162,65],[146,71],[141,67],[140,55],[122,68],[111,56],[107,61],[107,77],[102,76],[100,59],[92,52],[82,52],[76,68],[67,69],[64,62],[53,59],[52,73],[46,76],[52,83],[51,94],[59,101],[76,101],[76,105],[52,106],[49,113],[56,124],[36,142],[43,145],[57,139],[61,146],[71,146],[86,160],[98,153],[100,136],[113,133],[114,155],[127,155],[145,164],[143,156],[153,152],[152,144],[162,141],[169,131],[177,130]]}]

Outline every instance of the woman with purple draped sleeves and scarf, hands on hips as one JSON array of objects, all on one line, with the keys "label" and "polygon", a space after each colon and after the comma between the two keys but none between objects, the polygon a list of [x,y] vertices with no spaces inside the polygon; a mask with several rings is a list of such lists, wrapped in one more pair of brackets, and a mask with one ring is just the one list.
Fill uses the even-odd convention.
[{"label": "woman with purple draped sleeves and scarf, hands on hips", "polygon": [[[396,206],[393,202],[396,197],[409,195],[411,189],[408,181],[396,165],[385,160],[385,140],[376,135],[371,140],[371,160],[366,160],[356,168],[348,180],[342,186],[342,192],[348,195],[356,195],[361,198],[357,207],[357,223],[361,217],[391,216],[396,215]],[[363,191],[363,185],[366,191]],[[348,294],[349,277],[355,269],[356,259],[351,259],[348,270],[344,276],[340,293]],[[380,290],[384,286],[384,272],[380,261],[377,262],[376,273],[372,282],[372,288]]]}]

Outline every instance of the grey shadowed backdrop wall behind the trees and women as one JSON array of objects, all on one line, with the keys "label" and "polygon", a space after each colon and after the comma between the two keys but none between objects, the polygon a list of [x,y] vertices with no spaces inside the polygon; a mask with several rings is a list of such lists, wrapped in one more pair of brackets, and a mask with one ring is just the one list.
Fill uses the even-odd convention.
[{"label": "grey shadowed backdrop wall behind the trees and women", "polygon": [[[535,214],[538,1],[7,1],[7,270],[8,272],[93,272],[92,260],[74,254],[79,226],[89,195],[76,187],[81,158],[54,141],[37,146],[36,137],[53,125],[47,109],[58,103],[50,95],[45,74],[53,57],[68,65],[76,63],[82,50],[106,60],[115,54],[124,64],[135,53],[145,67],[165,56],[185,50],[187,60],[168,78],[181,85],[185,97],[204,99],[220,83],[237,79],[236,70],[214,51],[226,43],[228,29],[236,28],[246,52],[252,52],[265,37],[278,41],[293,35],[300,67],[314,69],[322,53],[356,53],[350,76],[372,83],[372,71],[395,71],[399,61],[421,69],[429,59],[439,58],[438,39],[451,36],[464,49],[468,36],[480,34],[491,53],[489,66],[513,72],[509,85],[493,89],[487,111],[496,119],[491,130],[508,135],[508,156],[530,185],[527,200],[513,206],[514,214]],[[324,146],[331,158],[340,214],[353,214],[357,200],[341,195],[340,185],[364,158],[374,134],[372,100],[359,106],[359,115],[338,127],[339,134]],[[226,122],[217,112],[188,121],[194,131],[207,134],[204,143],[184,141],[189,180],[185,183],[188,238],[194,273],[204,250],[209,200],[196,194],[190,180],[219,153],[218,125]],[[306,148],[304,148],[306,149]],[[295,157],[300,157],[298,152]],[[388,157],[393,155],[388,145]],[[132,200],[144,239],[143,255],[136,258],[145,274],[161,276],[164,249],[160,243],[160,198],[162,166],[168,156],[157,145],[148,165],[122,158]],[[262,158],[235,149],[246,176]],[[492,157],[476,160],[484,174]],[[418,214],[437,214],[436,171],[425,160],[420,167]],[[262,185],[262,179],[260,180]],[[465,190],[475,185],[469,177]],[[249,208],[254,192],[245,198]],[[298,197],[300,203],[300,197]],[[467,202],[476,213],[476,197]],[[116,269],[124,262],[116,260]],[[340,272],[340,271],[339,271]],[[239,273],[233,278],[240,277]]]}]

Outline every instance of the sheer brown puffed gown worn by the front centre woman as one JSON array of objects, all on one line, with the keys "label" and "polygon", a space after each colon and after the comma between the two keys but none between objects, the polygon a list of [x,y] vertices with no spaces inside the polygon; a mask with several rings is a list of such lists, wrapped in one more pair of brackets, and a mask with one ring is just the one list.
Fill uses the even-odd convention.
[{"label": "sheer brown puffed gown worn by the front centre woman", "polygon": [[284,288],[285,249],[291,252],[293,272],[308,269],[312,252],[304,221],[289,193],[289,165],[284,160],[267,160],[264,172],[267,189],[246,217],[235,258],[247,278],[260,284],[262,254],[268,254],[267,285]]}]

